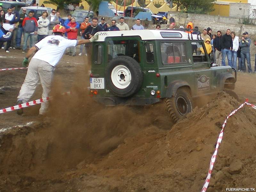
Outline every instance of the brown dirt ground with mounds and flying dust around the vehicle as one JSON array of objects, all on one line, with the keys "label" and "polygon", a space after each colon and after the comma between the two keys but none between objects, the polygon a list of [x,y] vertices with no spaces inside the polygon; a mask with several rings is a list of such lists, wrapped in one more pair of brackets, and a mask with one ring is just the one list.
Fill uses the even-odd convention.
[{"label": "brown dirt ground with mounds and flying dust around the vehicle", "polygon": [[[0,50],[0,68],[24,54]],[[1,192],[200,191],[225,117],[245,98],[256,104],[256,74],[238,73],[240,101],[220,92],[173,125],[164,103],[108,107],[88,97],[85,56],[65,55],[55,70],[47,117],[39,106],[0,114]],[[0,108],[15,104],[26,70],[0,72]],[[60,96],[72,91],[71,96]],[[41,98],[40,84],[33,99]],[[256,110],[246,107],[225,128],[208,192],[256,188]]]}]

